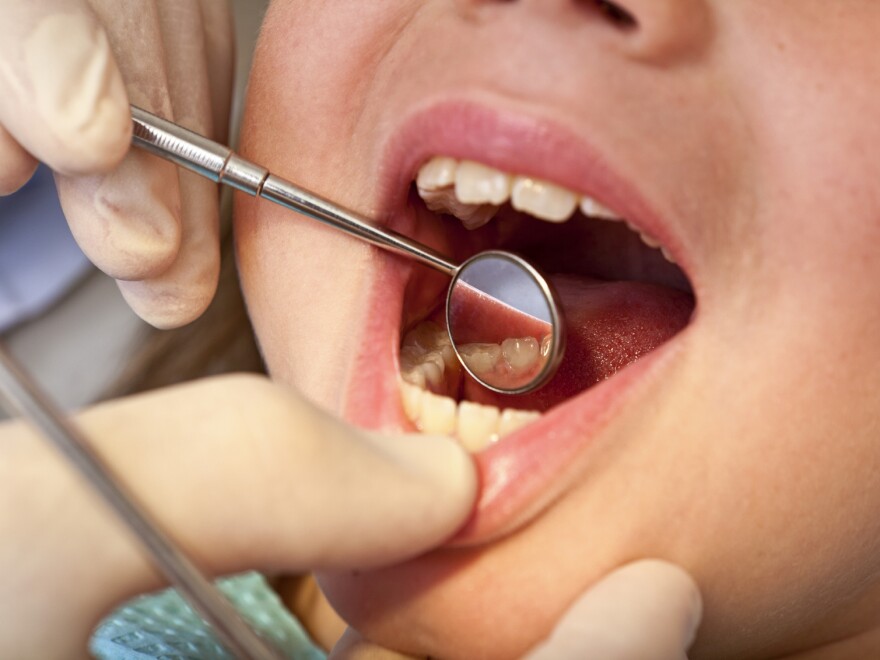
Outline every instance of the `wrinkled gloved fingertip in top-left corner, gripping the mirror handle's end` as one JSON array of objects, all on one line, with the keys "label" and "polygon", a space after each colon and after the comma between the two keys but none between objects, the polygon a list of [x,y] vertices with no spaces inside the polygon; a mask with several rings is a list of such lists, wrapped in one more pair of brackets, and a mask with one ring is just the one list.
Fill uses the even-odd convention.
[{"label": "wrinkled gloved fingertip in top-left corner, gripping the mirror handle's end", "polygon": [[107,171],[131,115],[107,34],[85,0],[0,3],[0,125],[52,169]]}]

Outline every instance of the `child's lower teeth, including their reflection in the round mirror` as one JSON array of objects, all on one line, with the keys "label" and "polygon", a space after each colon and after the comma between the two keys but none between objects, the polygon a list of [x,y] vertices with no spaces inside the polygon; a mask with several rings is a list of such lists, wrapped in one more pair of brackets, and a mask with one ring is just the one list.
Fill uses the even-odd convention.
[{"label": "child's lower teeth, including their reflection in the round mirror", "polygon": [[[537,341],[507,339],[498,344],[469,344],[460,348],[478,375],[498,369],[515,372],[534,368]],[[455,437],[472,453],[540,417],[533,411],[486,406],[452,398],[461,383],[461,366],[446,331],[423,322],[407,333],[400,351],[401,396],[406,416],[424,432]]]}]

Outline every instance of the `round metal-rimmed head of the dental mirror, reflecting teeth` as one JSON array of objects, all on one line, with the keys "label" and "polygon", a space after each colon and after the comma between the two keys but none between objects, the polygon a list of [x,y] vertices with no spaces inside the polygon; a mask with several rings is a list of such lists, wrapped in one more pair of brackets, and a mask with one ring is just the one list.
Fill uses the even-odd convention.
[{"label": "round metal-rimmed head of the dental mirror, reflecting teeth", "polygon": [[556,293],[508,252],[481,252],[459,266],[446,296],[446,327],[465,370],[501,394],[544,385],[565,349]]}]

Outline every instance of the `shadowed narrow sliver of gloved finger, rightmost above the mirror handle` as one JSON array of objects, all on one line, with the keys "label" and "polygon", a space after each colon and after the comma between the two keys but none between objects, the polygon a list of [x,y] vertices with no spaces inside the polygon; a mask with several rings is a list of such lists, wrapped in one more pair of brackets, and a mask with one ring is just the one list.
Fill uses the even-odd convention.
[{"label": "shadowed narrow sliver of gloved finger, rightmost above the mirror handle", "polygon": [[204,21],[208,84],[211,90],[214,139],[229,140],[229,112],[235,72],[235,30],[228,0],[199,0]]}]

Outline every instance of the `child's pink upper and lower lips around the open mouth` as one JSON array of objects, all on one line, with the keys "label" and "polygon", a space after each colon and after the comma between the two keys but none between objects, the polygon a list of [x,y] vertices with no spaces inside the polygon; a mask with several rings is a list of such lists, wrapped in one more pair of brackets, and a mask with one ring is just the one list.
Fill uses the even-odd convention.
[{"label": "child's pink upper and lower lips around the open mouth", "polygon": [[[464,102],[440,103],[412,115],[385,151],[380,208],[389,210],[389,224],[402,233],[413,235],[418,226],[416,213],[406,205],[409,186],[418,167],[436,155],[476,160],[588,194],[676,252],[678,241],[670,228],[582,139],[541,119]],[[413,267],[395,257],[378,264],[370,307],[382,312],[366,319],[363,345],[387,349],[356,357],[342,412],[366,428],[412,430],[400,402],[397,353],[404,290]],[[593,438],[624,405],[625,395],[668,361],[678,339],[475,456],[479,501],[452,543],[475,545],[508,533],[571,488]]]}]

